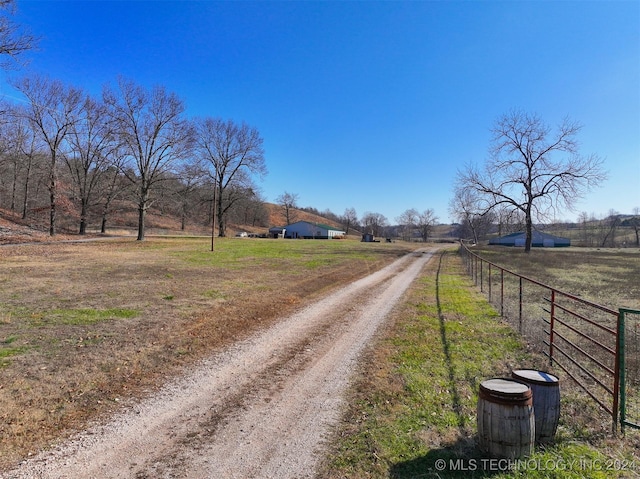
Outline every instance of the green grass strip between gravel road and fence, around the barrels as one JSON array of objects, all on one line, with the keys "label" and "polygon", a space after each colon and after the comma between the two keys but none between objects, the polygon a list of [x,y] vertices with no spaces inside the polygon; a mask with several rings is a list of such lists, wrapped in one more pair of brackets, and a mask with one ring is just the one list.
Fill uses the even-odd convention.
[{"label": "green grass strip between gravel road and fence, around the barrels", "polygon": [[554,445],[520,463],[483,456],[480,382],[548,363],[501,321],[455,252],[428,268],[370,349],[322,477],[637,477],[637,437],[612,437],[610,418],[565,381]]}]

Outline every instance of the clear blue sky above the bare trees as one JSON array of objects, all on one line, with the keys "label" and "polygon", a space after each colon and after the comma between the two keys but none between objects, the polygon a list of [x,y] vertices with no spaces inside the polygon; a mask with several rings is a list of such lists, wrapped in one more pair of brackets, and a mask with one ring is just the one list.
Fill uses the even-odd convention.
[{"label": "clear blue sky above the bare trees", "polygon": [[[456,170],[509,110],[584,125],[609,179],[567,211],[640,207],[640,2],[18,0],[26,69],[95,93],[124,75],[264,138],[267,201],[449,221]],[[15,95],[5,85],[0,93]]]}]

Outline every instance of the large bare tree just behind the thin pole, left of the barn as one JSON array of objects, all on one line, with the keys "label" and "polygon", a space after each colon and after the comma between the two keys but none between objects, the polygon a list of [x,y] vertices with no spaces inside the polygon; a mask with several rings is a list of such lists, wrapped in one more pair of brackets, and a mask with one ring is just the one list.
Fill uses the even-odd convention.
[{"label": "large bare tree just behind the thin pole, left of the barn", "polygon": [[196,120],[196,144],[199,158],[209,166],[218,236],[224,237],[227,212],[243,198],[243,191],[253,189],[253,175],[267,172],[263,139],[256,128],[245,123],[203,118]]}]

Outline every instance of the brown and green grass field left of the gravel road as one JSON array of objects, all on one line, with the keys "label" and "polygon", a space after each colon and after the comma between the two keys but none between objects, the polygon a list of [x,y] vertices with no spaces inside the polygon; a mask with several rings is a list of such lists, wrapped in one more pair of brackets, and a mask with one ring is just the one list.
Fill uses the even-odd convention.
[{"label": "brown and green grass field left of the gravel road", "polygon": [[0,248],[0,468],[420,245],[207,238]]}]

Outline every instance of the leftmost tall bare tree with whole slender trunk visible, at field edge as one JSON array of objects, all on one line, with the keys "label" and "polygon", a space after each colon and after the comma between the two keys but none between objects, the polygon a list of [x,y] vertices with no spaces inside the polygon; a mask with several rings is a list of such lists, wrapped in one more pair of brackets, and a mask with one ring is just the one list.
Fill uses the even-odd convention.
[{"label": "leftmost tall bare tree with whole slender trunk visible, at field edge", "polygon": [[28,100],[28,106],[21,111],[49,152],[49,234],[53,236],[56,234],[58,162],[66,153],[65,140],[77,121],[82,92],[42,76],[23,78],[15,87]]}]

